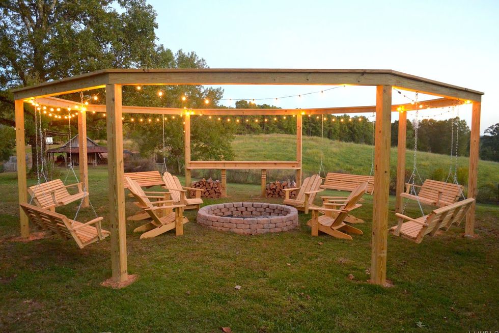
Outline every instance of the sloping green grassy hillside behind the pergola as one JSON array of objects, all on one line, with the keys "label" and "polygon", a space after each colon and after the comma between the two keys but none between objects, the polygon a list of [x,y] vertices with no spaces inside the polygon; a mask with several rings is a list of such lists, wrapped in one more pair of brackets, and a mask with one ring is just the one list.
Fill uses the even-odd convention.
[{"label": "sloping green grassy hillside behind the pergola", "polygon": [[[322,146],[324,155],[323,165],[326,172],[342,171],[359,175],[369,175],[371,171],[372,146],[332,141],[327,138],[324,138]],[[241,161],[292,161],[296,158],[296,137],[289,134],[238,135],[232,143],[232,147],[236,154],[235,159]],[[319,172],[320,157],[321,138],[317,136],[303,136],[302,164],[304,175],[308,176]],[[396,170],[394,169],[397,166],[396,147],[391,150],[390,161],[393,170]],[[412,161],[413,151],[408,148],[406,150],[406,169],[410,172],[412,171]],[[433,171],[439,168],[443,169],[447,174],[451,165],[450,156],[427,152],[418,152],[417,161],[417,168],[423,180],[431,177]],[[458,157],[457,161],[459,168],[468,168],[468,157]],[[452,164],[454,165],[455,161]],[[282,171],[271,171],[270,178],[272,178],[272,175],[279,177],[282,174]],[[258,177],[260,177],[259,174]],[[484,183],[499,183],[499,163],[482,160],[479,162],[478,185],[480,186]]]}]

